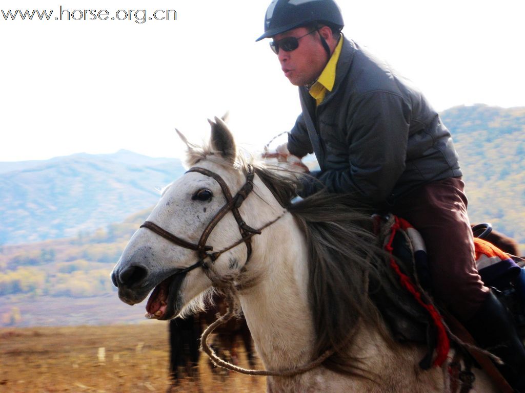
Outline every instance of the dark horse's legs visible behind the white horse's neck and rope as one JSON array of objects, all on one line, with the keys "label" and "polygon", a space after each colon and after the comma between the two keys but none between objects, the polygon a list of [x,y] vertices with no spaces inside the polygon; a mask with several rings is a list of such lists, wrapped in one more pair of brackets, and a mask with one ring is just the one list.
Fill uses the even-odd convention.
[{"label": "dark horse's legs visible behind the white horse's neck and rope", "polygon": [[[206,311],[185,318],[170,320],[170,377],[174,384],[185,376],[198,377],[200,339],[206,326],[217,319],[216,314],[226,312],[226,301],[219,294],[214,294],[212,304]],[[244,317],[232,319],[214,331],[212,344],[215,352],[230,363],[238,364],[237,339],[244,344],[244,350],[251,368],[255,368],[255,354],[251,334]],[[211,365],[212,366],[212,365]],[[216,368],[212,366],[212,370]]]}]

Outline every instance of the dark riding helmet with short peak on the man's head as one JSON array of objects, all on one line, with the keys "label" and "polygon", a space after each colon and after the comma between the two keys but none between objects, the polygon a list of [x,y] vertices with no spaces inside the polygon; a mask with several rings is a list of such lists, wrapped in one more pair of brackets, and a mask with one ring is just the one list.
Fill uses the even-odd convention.
[{"label": "dark riding helmet with short peak on the man's head", "polygon": [[272,0],[266,10],[264,34],[256,41],[311,22],[339,29],[344,26],[341,10],[333,0]]}]

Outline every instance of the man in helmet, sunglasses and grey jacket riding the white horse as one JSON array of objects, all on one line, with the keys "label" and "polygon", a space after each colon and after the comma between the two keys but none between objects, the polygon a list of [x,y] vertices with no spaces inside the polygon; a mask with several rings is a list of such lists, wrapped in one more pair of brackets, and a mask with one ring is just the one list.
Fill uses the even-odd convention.
[{"label": "man in helmet, sunglasses and grey jacket riding the white horse", "polygon": [[433,292],[498,355],[509,384],[525,392],[525,348],[506,308],[481,281],[467,198],[451,136],[419,90],[341,33],[333,0],[273,0],[265,17],[302,113],[283,156],[314,153],[320,171],[301,196],[322,188],[359,195],[411,222],[423,235]]}]

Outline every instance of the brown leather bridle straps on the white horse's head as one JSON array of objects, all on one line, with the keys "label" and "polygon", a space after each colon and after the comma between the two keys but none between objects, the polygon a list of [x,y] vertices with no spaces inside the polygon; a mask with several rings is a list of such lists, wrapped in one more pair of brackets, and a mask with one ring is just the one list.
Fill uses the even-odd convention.
[{"label": "brown leather bridle straps on the white horse's head", "polygon": [[[252,228],[251,226],[246,224],[246,222],[243,220],[243,217],[241,217],[240,215],[239,207],[241,204],[243,204],[243,202],[246,200],[246,198],[248,197],[248,195],[254,188],[253,181],[254,181],[255,171],[251,165],[248,165],[248,171],[246,173],[246,182],[244,183],[243,187],[241,187],[240,190],[235,194],[235,196],[232,196],[232,193],[230,192],[228,185],[223,180],[223,178],[220,177],[217,173],[212,172],[205,168],[200,168],[200,167],[190,168],[186,171],[186,173],[188,172],[198,172],[198,173],[204,174],[205,176],[214,178],[217,181],[217,183],[219,183],[220,188],[223,190],[224,197],[226,198],[226,204],[222,208],[220,208],[220,210],[213,217],[212,221],[210,221],[208,225],[204,228],[204,231],[201,237],[199,238],[198,243],[197,244],[191,243],[191,242],[186,241],[185,239],[175,236],[174,234],[164,230],[163,228],[161,228],[160,226],[156,225],[155,223],[151,221],[145,221],[140,227],[148,228],[150,231],[153,231],[154,233],[158,234],[159,236],[164,237],[165,239],[169,240],[170,242],[178,246],[181,246],[187,249],[191,249],[191,250],[195,250],[197,252],[198,261],[191,266],[178,270],[175,274],[186,273],[198,267],[208,269],[209,266],[205,262],[206,258],[210,258],[213,263],[218,257],[220,257],[221,254],[238,246],[241,243],[246,244],[246,249],[247,249],[246,263],[248,263],[248,260],[250,259],[250,256],[251,256],[251,237],[253,237],[254,235],[260,235],[261,231],[264,228],[266,228],[267,226],[279,220],[285,214],[286,211],[283,211],[283,213],[279,215],[275,220],[272,220],[266,223],[259,229]],[[206,241],[208,240],[209,235],[212,233],[213,229],[218,224],[218,222],[222,220],[223,217],[228,212],[233,213],[233,216],[235,217],[235,221],[237,221],[237,225],[239,227],[241,238],[237,242],[233,243],[232,245],[222,250],[212,252],[213,247],[207,246]]]}]

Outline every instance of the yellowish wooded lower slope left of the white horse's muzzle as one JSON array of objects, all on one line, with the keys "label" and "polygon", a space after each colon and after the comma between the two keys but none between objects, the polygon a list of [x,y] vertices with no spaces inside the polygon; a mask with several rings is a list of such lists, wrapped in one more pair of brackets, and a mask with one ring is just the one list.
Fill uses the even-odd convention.
[{"label": "yellowish wooded lower slope left of the white horse's muzzle", "polygon": [[150,211],[91,234],[0,246],[0,326],[140,321],[141,306],[118,300],[110,272]]}]

